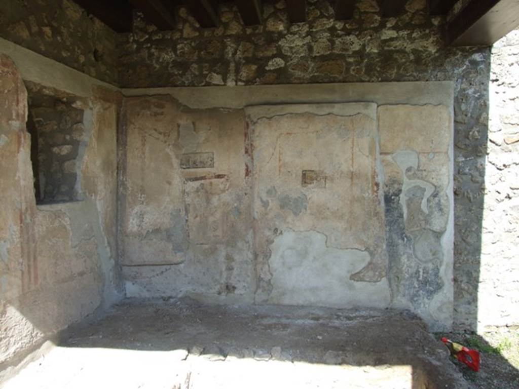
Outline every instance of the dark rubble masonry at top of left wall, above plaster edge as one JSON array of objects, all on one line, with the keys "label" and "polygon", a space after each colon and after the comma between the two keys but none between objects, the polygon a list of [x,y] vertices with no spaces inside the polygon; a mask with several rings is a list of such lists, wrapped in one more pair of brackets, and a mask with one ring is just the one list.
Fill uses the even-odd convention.
[{"label": "dark rubble masonry at top of left wall, above plaster edge", "polygon": [[0,36],[117,84],[117,34],[72,0],[2,0]]}]

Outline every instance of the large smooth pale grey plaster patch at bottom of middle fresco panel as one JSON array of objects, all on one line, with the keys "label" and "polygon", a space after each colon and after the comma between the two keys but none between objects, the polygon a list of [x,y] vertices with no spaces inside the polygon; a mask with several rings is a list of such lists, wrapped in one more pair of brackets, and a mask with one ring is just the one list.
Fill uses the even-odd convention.
[{"label": "large smooth pale grey plaster patch at bottom of middle fresco panel", "polygon": [[318,231],[284,230],[270,246],[270,303],[323,307],[387,307],[389,286],[355,282],[350,275],[370,261],[366,251],[326,246]]}]

